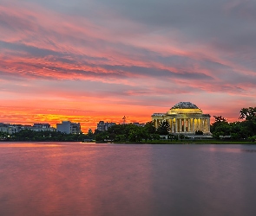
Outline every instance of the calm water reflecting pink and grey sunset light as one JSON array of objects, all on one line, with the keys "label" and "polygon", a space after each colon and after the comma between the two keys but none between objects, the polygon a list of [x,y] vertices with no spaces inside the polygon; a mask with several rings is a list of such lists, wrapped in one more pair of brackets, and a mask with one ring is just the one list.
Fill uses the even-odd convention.
[{"label": "calm water reflecting pink and grey sunset light", "polygon": [[0,215],[256,213],[256,146],[0,143]]}]

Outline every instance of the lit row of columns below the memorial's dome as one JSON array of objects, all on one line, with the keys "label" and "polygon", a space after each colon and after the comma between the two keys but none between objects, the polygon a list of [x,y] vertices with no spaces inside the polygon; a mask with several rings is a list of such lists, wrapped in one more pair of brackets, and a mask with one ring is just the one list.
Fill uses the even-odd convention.
[{"label": "lit row of columns below the memorial's dome", "polygon": [[163,121],[170,124],[170,132],[172,133],[194,133],[196,130],[210,132],[209,118],[170,118],[155,119],[154,126],[158,128]]}]

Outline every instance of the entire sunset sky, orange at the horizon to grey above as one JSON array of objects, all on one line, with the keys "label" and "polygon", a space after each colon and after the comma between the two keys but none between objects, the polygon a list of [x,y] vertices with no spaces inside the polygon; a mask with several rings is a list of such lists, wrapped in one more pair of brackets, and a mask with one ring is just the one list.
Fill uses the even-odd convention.
[{"label": "entire sunset sky, orange at the horizon to grey above", "polygon": [[95,129],[256,106],[256,0],[0,0],[0,122]]}]

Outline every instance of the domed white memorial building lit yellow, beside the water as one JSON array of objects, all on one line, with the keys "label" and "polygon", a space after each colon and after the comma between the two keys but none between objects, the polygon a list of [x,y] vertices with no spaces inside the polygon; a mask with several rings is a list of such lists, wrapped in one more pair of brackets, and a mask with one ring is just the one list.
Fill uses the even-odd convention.
[{"label": "domed white memorial building lit yellow, beside the water", "polygon": [[170,132],[175,134],[194,135],[196,130],[210,135],[210,115],[203,112],[190,102],[180,102],[174,105],[167,113],[154,113],[152,116],[155,128],[168,121]]}]

